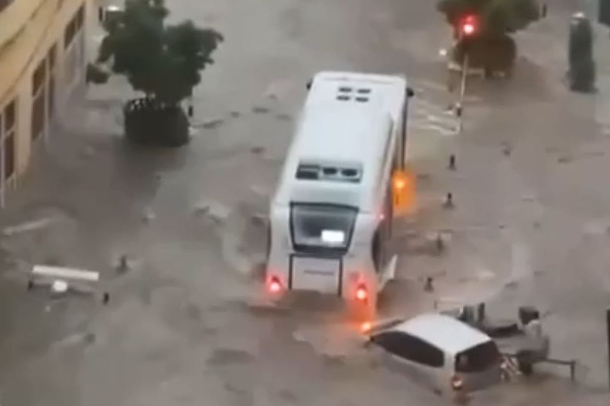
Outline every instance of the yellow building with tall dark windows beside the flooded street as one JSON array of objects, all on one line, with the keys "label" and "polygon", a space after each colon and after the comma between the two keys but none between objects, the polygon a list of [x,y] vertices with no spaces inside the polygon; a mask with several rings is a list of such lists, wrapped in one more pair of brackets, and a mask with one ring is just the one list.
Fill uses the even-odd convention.
[{"label": "yellow building with tall dark windows beside the flooded street", "polygon": [[0,206],[84,83],[91,0],[0,0]]}]

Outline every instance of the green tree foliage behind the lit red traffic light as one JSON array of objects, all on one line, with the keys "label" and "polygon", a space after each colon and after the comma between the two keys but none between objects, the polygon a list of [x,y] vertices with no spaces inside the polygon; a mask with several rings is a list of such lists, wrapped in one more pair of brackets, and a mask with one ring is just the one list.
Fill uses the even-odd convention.
[{"label": "green tree foliage behind the lit red traffic light", "polygon": [[439,0],[437,9],[453,27],[465,15],[477,15],[481,35],[493,37],[522,30],[540,18],[537,0]]}]

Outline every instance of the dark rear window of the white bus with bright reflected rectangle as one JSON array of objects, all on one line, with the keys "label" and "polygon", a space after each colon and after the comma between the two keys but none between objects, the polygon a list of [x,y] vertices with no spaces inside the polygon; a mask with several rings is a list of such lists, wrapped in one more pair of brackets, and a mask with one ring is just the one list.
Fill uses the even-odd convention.
[{"label": "dark rear window of the white bus with bright reflected rectangle", "polygon": [[339,250],[350,246],[358,209],[318,203],[292,203],[290,231],[296,250]]}]

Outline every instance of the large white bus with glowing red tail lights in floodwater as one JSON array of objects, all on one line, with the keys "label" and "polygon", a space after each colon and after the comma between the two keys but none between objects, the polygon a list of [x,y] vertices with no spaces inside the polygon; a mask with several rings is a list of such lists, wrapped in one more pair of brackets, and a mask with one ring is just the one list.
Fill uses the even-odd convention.
[{"label": "large white bus with glowing red tail lights in floodwater", "polygon": [[392,173],[412,91],[402,76],[351,72],[320,72],[308,88],[271,200],[267,292],[337,295],[370,317],[396,265]]}]

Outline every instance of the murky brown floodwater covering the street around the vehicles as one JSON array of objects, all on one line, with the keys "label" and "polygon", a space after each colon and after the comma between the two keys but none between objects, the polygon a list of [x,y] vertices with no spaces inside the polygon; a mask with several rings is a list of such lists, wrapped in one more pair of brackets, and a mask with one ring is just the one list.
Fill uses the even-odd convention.
[{"label": "murky brown floodwater covering the street around the vehicles", "polygon": [[[523,33],[534,40],[519,44],[513,87],[472,83],[458,136],[439,57],[448,27],[429,1],[167,5],[170,19],[192,18],[225,37],[195,89],[192,142],[127,145],[121,102],[134,95],[122,79],[91,85],[54,128],[0,218],[2,227],[47,219],[0,237],[3,406],[448,404],[379,365],[336,314],[253,306],[269,198],[307,80],[325,69],[406,74],[416,93],[409,154],[418,213],[401,223],[399,281],[382,316],[443,302],[502,298],[498,312],[536,304],[549,314],[554,353],[586,365],[586,390],[567,391],[551,374],[540,379],[544,396],[515,383],[472,404],[607,404],[589,389],[606,379],[598,354],[606,351],[610,193],[593,179],[610,167],[595,116],[610,94],[584,99],[560,82],[554,62],[565,41],[549,38],[568,10]],[[450,153],[458,156],[451,173]],[[453,211],[442,208],[449,191]],[[439,230],[448,250],[430,254]],[[130,268],[121,273],[123,255]],[[99,271],[110,303],[26,293],[26,273],[41,263]],[[423,292],[427,276],[434,293]]]}]

